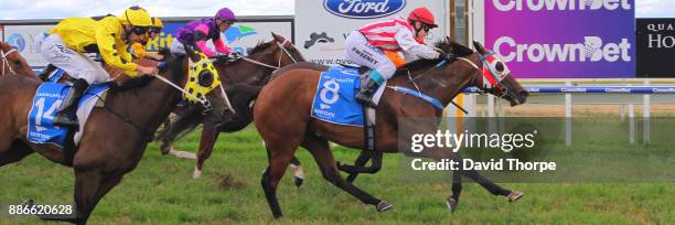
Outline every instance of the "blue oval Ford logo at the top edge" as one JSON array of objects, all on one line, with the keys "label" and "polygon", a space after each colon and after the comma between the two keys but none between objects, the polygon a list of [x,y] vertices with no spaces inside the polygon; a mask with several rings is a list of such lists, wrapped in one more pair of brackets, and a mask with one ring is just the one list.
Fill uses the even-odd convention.
[{"label": "blue oval Ford logo at the top edge", "polygon": [[342,18],[374,19],[392,15],[406,7],[406,0],[324,0],[323,8]]}]

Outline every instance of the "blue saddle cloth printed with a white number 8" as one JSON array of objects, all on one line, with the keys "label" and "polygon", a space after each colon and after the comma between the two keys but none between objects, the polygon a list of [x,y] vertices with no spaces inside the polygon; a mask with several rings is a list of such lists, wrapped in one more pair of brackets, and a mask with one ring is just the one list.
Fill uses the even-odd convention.
[{"label": "blue saddle cloth printed with a white number 8", "polygon": [[334,66],[321,73],[312,117],[338,125],[363,127],[363,106],[356,101],[357,68]]}]

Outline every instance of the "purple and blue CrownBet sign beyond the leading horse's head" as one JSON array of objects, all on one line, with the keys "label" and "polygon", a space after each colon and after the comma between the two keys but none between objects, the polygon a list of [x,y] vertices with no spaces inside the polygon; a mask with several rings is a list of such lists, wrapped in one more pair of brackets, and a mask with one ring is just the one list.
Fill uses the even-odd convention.
[{"label": "purple and blue CrownBet sign beyond the leading horse's head", "polygon": [[518,78],[635,76],[633,0],[489,0],[486,47]]}]

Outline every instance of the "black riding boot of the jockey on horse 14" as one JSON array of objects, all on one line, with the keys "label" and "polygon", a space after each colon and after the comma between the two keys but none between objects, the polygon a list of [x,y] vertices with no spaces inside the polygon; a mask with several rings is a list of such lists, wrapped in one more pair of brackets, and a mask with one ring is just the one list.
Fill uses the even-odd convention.
[{"label": "black riding boot of the jockey on horse 14", "polygon": [[75,113],[77,110],[77,103],[87,87],[89,87],[89,84],[86,79],[76,79],[73,82],[73,87],[71,87],[68,94],[66,94],[65,99],[58,107],[56,116],[54,117],[54,126],[79,126]]}]

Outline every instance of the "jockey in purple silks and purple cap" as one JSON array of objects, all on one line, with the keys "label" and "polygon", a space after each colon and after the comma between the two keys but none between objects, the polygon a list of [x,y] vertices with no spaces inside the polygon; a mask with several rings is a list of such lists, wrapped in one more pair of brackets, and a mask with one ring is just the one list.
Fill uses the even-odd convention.
[{"label": "jockey in purple silks and purple cap", "polygon": [[195,50],[200,50],[206,54],[206,56],[213,57],[216,56],[217,53],[206,46],[206,41],[212,40],[217,52],[229,54],[232,49],[223,42],[221,33],[229,29],[236,21],[237,19],[234,12],[227,8],[218,10],[214,18],[192,21],[175,32],[178,41],[174,40],[171,44],[171,52],[184,54],[185,50],[183,45],[189,45]]}]

